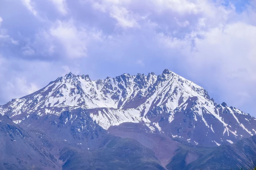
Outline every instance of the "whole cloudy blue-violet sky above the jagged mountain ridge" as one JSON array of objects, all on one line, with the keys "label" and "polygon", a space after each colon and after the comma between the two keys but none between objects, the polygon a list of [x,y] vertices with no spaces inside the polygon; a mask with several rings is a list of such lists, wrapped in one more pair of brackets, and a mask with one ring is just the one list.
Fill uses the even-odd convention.
[{"label": "whole cloudy blue-violet sky above the jagged mountain ridge", "polygon": [[256,1],[0,0],[0,105],[68,72],[166,68],[256,117]]}]

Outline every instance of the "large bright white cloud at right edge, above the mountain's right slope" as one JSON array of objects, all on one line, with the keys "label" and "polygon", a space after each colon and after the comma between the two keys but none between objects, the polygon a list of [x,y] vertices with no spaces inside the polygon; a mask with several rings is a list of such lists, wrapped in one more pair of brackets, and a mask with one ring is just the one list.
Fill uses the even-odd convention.
[{"label": "large bright white cloud at right edge, above the mountain's right slope", "polygon": [[[246,81],[256,80],[256,27],[243,22],[227,24],[202,32],[204,38],[195,39],[198,49],[190,58],[195,68],[205,69],[216,65],[221,78],[239,77]],[[241,71],[246,68],[246,71]]]}]

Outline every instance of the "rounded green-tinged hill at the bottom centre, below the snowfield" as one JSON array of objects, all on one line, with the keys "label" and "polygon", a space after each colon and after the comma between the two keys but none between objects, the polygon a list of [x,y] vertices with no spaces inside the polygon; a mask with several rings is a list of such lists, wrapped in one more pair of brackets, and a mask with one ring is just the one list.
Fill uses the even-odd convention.
[{"label": "rounded green-tinged hill at the bottom centre, below the snowfield", "polygon": [[150,149],[129,138],[113,137],[104,147],[87,151],[66,148],[63,169],[164,169]]}]

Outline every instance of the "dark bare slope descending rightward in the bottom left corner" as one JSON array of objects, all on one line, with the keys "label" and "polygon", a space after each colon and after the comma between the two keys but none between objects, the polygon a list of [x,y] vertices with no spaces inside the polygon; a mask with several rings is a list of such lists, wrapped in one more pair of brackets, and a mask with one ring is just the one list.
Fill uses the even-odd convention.
[{"label": "dark bare slope descending rightward in the bottom left corner", "polygon": [[0,115],[0,136],[0,169],[61,169],[59,160],[38,138],[6,115]]}]

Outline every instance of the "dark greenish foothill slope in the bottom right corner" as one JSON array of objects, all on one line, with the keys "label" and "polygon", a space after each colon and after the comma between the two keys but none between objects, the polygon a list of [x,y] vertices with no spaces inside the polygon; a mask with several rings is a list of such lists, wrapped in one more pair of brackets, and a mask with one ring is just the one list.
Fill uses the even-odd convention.
[{"label": "dark greenish foothill slope in the bottom right corner", "polygon": [[[256,135],[220,147],[180,146],[167,169],[253,169],[256,165]],[[194,159],[194,160],[193,160]]]}]

